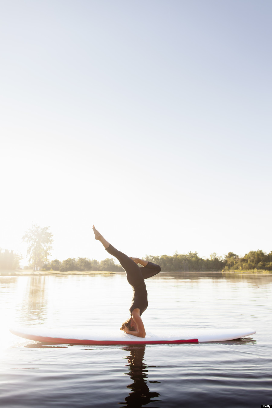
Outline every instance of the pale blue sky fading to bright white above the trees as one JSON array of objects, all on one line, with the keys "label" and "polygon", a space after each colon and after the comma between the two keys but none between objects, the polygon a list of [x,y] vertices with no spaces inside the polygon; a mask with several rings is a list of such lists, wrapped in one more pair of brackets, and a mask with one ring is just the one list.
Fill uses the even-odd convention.
[{"label": "pale blue sky fading to bright white above the trees", "polygon": [[272,251],[269,0],[2,0],[0,248]]}]

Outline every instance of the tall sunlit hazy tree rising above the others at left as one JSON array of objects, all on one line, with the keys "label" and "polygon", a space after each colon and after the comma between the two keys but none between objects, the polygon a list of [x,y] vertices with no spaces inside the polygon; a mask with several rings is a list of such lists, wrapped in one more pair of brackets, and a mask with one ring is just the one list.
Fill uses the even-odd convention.
[{"label": "tall sunlit hazy tree rising above the others at left", "polygon": [[29,256],[29,264],[33,266],[33,271],[48,262],[53,242],[53,235],[49,232],[49,228],[33,224],[22,237],[23,241],[28,244],[27,255]]}]

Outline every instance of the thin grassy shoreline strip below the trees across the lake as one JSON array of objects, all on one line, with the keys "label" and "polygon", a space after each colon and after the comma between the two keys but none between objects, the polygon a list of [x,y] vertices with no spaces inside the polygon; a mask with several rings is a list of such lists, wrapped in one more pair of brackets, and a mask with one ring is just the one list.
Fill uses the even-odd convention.
[{"label": "thin grassy shoreline strip below the trees across the lake", "polygon": [[[116,273],[125,273],[124,271],[32,271],[32,269],[16,269],[16,270],[2,270],[0,271],[0,276],[46,276],[46,275],[114,275]],[[164,273],[164,272],[162,272]],[[167,273],[167,271],[166,271]],[[252,269],[248,271],[170,271],[168,273],[185,273],[185,274],[194,274],[194,273],[221,273],[222,275],[231,274],[231,275],[270,275],[272,271],[265,271],[263,269]]]}]

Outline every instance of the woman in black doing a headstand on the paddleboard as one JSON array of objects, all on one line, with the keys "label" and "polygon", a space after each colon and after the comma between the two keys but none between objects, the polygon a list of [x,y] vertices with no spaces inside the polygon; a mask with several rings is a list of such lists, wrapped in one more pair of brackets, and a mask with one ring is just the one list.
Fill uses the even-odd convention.
[{"label": "woman in black doing a headstand on the paddleboard", "polygon": [[[144,330],[144,324],[141,319],[141,315],[148,306],[144,279],[157,275],[157,273],[161,271],[161,267],[152,262],[144,261],[143,259],[128,257],[122,252],[117,251],[117,249],[102,237],[94,225],[93,232],[95,233],[95,239],[98,239],[98,241],[103,244],[106,251],[118,259],[126,271],[128,283],[133,287],[132,304],[129,309],[131,317],[122,324],[120,330],[124,330],[124,332],[132,334],[133,336],[146,337],[146,331]],[[142,265],[143,268],[139,268],[137,264]]]}]

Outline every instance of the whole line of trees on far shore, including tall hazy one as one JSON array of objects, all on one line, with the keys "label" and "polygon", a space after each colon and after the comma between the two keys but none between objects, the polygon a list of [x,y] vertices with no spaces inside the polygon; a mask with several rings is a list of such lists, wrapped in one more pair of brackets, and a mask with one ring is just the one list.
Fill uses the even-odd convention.
[{"label": "whole line of trees on far shore, including tall hazy one", "polygon": [[[54,259],[49,261],[52,249],[53,235],[49,227],[40,227],[33,224],[22,237],[27,242],[27,255],[29,257],[29,268],[44,271],[123,271],[119,264],[115,264],[114,258],[106,258],[103,261],[88,258],[68,258],[64,261]],[[13,251],[0,249],[0,269],[16,269],[22,257]],[[243,257],[239,257],[233,252],[229,252],[224,257],[212,253],[210,258],[201,258],[197,252],[188,252],[174,255],[146,255],[147,261],[154,262],[161,266],[166,272],[200,272],[200,271],[250,271],[266,270],[272,271],[272,251],[265,253],[262,250],[250,251]]]}]

